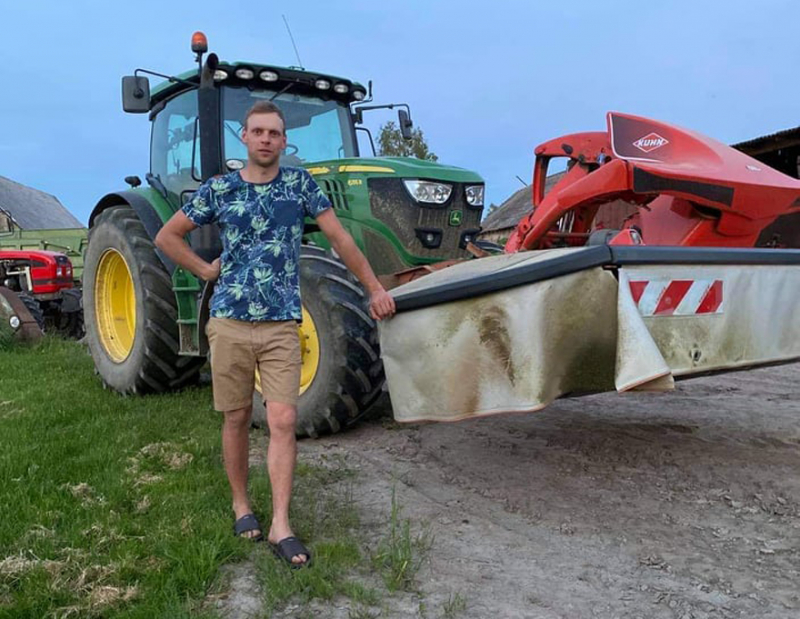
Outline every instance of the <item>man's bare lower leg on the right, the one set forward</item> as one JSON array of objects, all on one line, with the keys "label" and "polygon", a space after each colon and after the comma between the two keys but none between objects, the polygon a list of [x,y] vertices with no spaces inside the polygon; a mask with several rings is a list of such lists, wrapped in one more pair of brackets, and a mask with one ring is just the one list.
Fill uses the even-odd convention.
[{"label": "man's bare lower leg on the right, the one set forward", "polygon": [[[294,535],[289,525],[289,504],[292,499],[294,466],[297,462],[296,421],[297,407],[293,404],[267,403],[270,435],[267,467],[272,484],[272,526],[267,539],[273,544]],[[292,563],[305,563],[307,560],[305,555],[292,557]]]}]

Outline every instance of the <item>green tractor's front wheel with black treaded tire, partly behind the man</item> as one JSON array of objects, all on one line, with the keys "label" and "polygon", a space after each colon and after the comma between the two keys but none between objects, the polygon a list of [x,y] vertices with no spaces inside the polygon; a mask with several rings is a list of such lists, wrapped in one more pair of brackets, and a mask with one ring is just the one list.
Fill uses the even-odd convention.
[{"label": "green tractor's front wheel with black treaded tire, partly behind the man", "polygon": [[[304,245],[300,288],[319,356],[313,379],[301,387],[297,436],[316,438],[363,419],[381,395],[385,376],[367,295],[347,267],[330,252]],[[301,347],[314,347],[303,337],[311,331],[310,326],[304,324],[301,329]],[[308,363],[306,357],[304,364]],[[253,420],[263,425],[259,394],[254,398]]]}]

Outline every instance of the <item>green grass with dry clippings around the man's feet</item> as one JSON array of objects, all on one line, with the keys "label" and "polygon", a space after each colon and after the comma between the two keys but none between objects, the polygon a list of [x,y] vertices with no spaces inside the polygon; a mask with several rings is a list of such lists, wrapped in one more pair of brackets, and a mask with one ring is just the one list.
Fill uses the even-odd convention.
[{"label": "green grass with dry clippings around the man's feet", "polygon": [[[232,535],[220,422],[210,387],[122,397],[76,342],[0,347],[0,617],[214,617],[220,568],[245,559],[266,616],[289,599],[375,603],[350,577],[372,561],[351,499],[325,492],[350,473],[298,467],[292,519],[315,566],[291,572]],[[268,521],[263,467],[250,485]]]}]

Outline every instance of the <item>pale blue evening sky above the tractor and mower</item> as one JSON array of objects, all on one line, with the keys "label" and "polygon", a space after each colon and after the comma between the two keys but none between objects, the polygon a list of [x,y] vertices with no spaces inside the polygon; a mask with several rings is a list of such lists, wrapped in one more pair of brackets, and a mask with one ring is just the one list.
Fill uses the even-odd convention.
[{"label": "pale blue evening sky above the tractor and mower", "polygon": [[282,14],[307,69],[409,103],[441,162],[484,177],[487,206],[530,178],[538,143],[604,129],[608,110],[725,142],[800,125],[796,1],[4,0],[0,175],[85,222],[147,172],[149,123],[122,112],[120,77],[191,68],[195,30],[222,59],[296,64]]}]

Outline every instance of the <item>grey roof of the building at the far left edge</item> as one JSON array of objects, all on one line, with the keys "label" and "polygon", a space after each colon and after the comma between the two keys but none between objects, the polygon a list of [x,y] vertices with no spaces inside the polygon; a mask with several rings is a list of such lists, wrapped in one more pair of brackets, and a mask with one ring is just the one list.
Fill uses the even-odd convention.
[{"label": "grey roof of the building at the far left edge", "polygon": [[23,230],[83,228],[53,195],[0,176],[0,208]]}]

